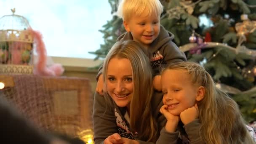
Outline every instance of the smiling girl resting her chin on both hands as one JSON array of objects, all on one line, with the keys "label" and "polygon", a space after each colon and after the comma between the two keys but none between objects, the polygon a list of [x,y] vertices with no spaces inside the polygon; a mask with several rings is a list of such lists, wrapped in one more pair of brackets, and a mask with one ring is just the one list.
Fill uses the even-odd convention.
[{"label": "smiling girl resting her chin on both hands", "polygon": [[199,64],[171,64],[163,70],[161,83],[160,112],[167,119],[161,135],[171,134],[171,144],[255,144],[237,103],[215,87]]}]

